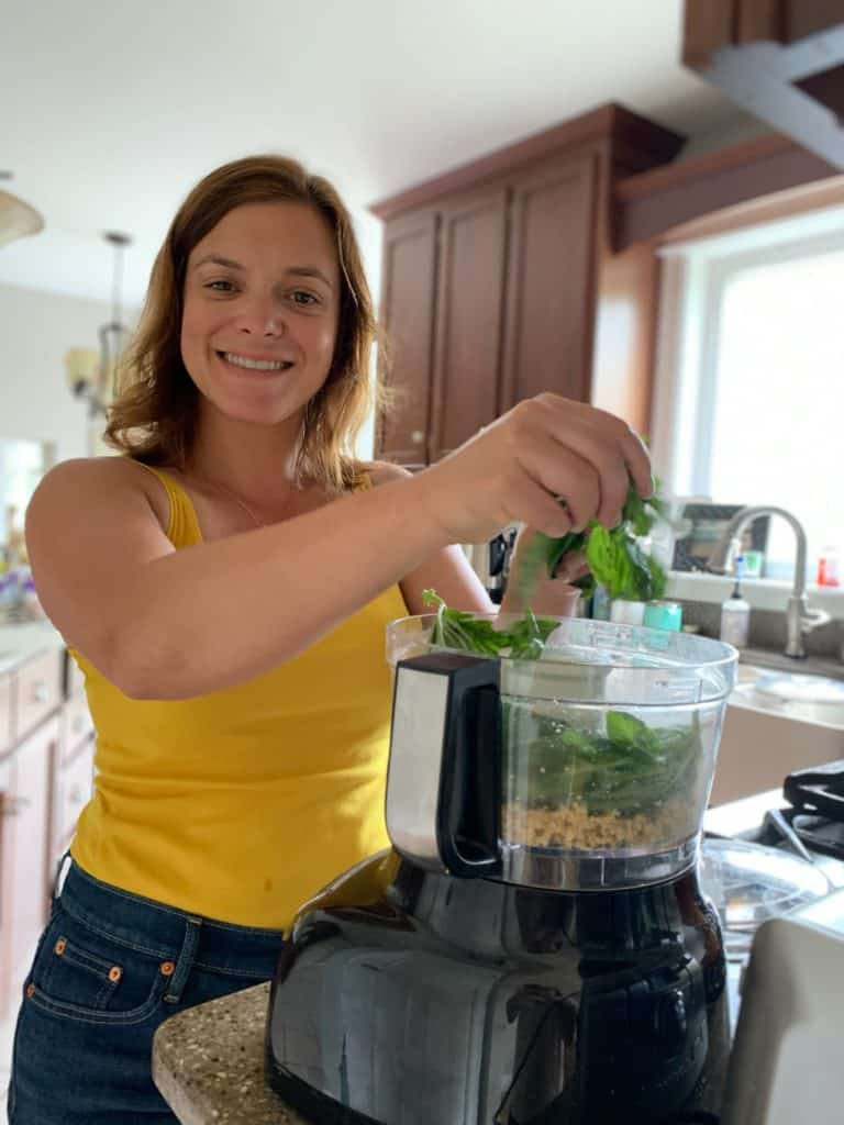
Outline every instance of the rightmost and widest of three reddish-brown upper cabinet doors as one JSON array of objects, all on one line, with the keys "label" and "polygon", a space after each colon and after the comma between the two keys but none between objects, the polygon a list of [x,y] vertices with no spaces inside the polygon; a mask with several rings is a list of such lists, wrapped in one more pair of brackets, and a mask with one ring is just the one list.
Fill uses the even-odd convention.
[{"label": "rightmost and widest of three reddish-brown upper cabinet doors", "polygon": [[500,413],[544,390],[589,400],[596,188],[592,156],[513,183]]}]

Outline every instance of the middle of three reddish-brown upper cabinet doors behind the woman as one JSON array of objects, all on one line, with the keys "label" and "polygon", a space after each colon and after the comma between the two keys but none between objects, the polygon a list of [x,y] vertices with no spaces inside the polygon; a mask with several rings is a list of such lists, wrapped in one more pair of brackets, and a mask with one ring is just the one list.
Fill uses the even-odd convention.
[{"label": "middle of three reddish-brown upper cabinet doors behind the woman", "polygon": [[432,461],[497,414],[506,253],[506,189],[455,199],[440,210]]}]

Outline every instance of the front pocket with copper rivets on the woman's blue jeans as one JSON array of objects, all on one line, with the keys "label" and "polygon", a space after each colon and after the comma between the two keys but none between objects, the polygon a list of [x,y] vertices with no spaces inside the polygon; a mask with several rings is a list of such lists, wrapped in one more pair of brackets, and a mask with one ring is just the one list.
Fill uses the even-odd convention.
[{"label": "front pocket with copper rivets on the woman's blue jeans", "polygon": [[60,907],[45,932],[26,996],[55,1016],[117,1025],[146,1019],[165,988],[156,957],[90,929]]}]

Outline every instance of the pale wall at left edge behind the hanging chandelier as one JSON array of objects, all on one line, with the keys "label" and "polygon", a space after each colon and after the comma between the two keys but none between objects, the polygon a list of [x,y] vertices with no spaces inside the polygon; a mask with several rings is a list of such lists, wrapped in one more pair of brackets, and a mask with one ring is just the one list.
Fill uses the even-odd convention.
[{"label": "pale wall at left edge behind the hanging chandelier", "polygon": [[74,398],[64,353],[98,346],[106,302],[0,286],[0,436],[55,443],[56,460],[88,456],[88,407]]}]

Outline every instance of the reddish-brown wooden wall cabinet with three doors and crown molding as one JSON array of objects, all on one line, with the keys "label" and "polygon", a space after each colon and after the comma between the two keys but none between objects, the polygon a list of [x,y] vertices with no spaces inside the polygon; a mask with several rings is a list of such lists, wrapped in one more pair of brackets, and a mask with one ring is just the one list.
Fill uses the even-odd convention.
[{"label": "reddish-brown wooden wall cabinet with three doors and crown molding", "polygon": [[[611,378],[594,367],[605,279],[612,274],[612,300],[627,302],[634,321],[650,324],[656,298],[655,271],[611,261],[611,183],[664,163],[681,144],[609,106],[372,207],[385,219],[381,323],[393,388],[377,457],[420,468],[544,390],[646,411],[646,392],[618,393],[627,372],[617,353]],[[619,278],[634,279],[636,291],[619,292]],[[649,377],[640,354],[629,357],[629,371]]]}]

